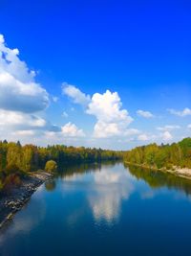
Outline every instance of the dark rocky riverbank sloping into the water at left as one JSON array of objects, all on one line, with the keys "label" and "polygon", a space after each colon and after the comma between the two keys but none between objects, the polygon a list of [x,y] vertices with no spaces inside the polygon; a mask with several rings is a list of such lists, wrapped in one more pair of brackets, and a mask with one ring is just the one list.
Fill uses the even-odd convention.
[{"label": "dark rocky riverbank sloping into the water at left", "polygon": [[51,176],[46,172],[32,173],[22,180],[21,186],[14,187],[9,194],[0,196],[0,228],[11,220],[12,216],[31,198],[33,192]]}]

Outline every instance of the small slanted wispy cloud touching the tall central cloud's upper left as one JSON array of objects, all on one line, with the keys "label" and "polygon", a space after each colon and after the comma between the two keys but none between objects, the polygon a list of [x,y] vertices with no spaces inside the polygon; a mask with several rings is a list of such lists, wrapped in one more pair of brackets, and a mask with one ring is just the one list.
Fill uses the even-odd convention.
[{"label": "small slanted wispy cloud touching the tall central cloud's upper left", "polygon": [[62,83],[62,93],[72,98],[75,104],[86,106],[91,100],[89,95],[86,95],[74,85],[68,84],[67,82]]}]

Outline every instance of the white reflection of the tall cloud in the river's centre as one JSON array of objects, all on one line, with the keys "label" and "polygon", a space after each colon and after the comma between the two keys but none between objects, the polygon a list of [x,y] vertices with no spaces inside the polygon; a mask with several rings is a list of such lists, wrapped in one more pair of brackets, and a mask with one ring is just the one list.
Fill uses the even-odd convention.
[{"label": "white reflection of the tall cloud in the river's centre", "polygon": [[89,196],[89,202],[96,221],[117,221],[122,199],[129,198],[134,190],[128,173],[119,168],[103,168],[93,178],[95,193]]}]

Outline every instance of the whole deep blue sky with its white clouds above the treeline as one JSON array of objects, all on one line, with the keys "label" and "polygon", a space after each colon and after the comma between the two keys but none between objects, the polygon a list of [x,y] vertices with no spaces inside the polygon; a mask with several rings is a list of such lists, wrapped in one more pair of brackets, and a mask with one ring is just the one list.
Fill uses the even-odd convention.
[{"label": "whole deep blue sky with its white clouds above the treeline", "polygon": [[0,9],[0,139],[125,150],[190,136],[189,1]]}]

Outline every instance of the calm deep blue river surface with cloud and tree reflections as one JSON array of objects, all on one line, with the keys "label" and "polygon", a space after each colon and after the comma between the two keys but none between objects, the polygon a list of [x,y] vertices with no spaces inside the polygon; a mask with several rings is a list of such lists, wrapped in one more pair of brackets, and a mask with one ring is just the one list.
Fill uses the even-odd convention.
[{"label": "calm deep blue river surface with cloud and tree reflections", "polygon": [[70,167],[0,232],[2,256],[191,255],[191,183],[122,163]]}]

